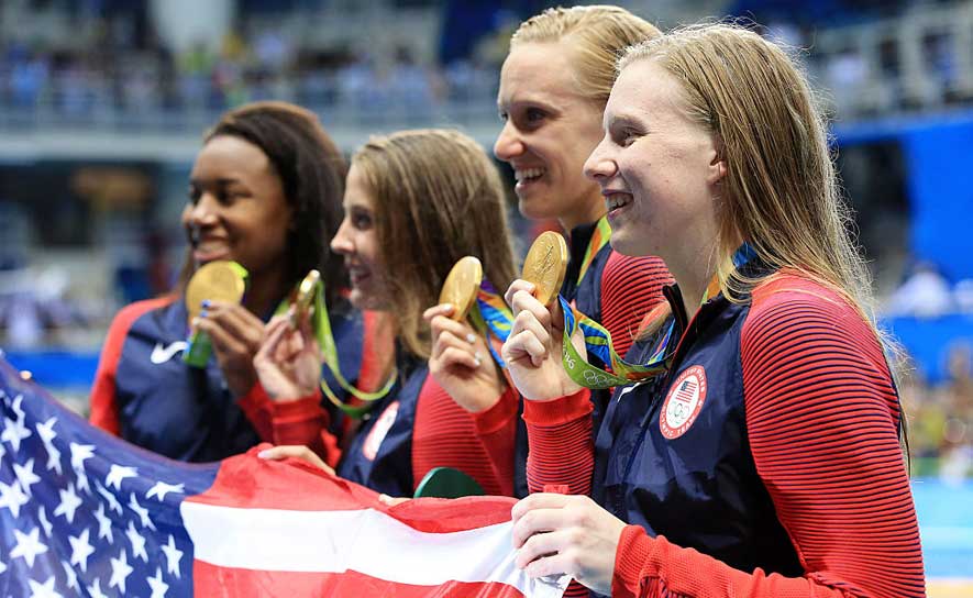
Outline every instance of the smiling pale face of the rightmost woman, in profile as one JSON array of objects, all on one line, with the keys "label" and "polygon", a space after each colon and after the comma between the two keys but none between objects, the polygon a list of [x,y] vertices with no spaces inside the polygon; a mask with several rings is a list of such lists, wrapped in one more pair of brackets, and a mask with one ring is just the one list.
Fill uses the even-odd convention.
[{"label": "smiling pale face of the rightmost woman, in profile", "polygon": [[674,273],[709,258],[726,163],[715,136],[689,118],[676,79],[654,60],[619,75],[585,174],[601,188],[617,251],[659,255]]}]

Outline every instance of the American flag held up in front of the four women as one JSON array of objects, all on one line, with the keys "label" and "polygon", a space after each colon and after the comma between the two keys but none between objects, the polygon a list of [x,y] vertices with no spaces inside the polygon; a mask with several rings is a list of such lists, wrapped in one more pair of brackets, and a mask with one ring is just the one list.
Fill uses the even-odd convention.
[{"label": "American flag held up in front of the four women", "polygon": [[512,499],[417,499],[255,451],[177,463],[90,427],[0,357],[0,597],[509,596]]}]

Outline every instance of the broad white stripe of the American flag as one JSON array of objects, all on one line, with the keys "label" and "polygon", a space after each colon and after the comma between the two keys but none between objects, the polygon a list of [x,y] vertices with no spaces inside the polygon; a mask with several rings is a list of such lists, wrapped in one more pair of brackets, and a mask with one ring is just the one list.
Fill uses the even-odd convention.
[{"label": "broad white stripe of the American flag", "polygon": [[513,565],[512,523],[429,533],[373,509],[290,511],[181,503],[195,557],[212,565],[365,575],[420,586],[499,582],[531,598],[560,597],[570,578],[530,579]]}]

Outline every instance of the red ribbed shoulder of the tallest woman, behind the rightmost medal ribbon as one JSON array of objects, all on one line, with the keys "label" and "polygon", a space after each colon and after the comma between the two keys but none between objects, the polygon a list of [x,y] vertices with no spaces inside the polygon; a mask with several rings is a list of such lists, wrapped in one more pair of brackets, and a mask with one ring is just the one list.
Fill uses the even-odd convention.
[{"label": "red ribbed shoulder of the tallest woman, behind the rightmost medal ribbon", "polygon": [[662,288],[673,278],[657,257],[630,257],[615,251],[601,270],[601,321],[616,353],[624,356],[645,314],[664,301]]}]

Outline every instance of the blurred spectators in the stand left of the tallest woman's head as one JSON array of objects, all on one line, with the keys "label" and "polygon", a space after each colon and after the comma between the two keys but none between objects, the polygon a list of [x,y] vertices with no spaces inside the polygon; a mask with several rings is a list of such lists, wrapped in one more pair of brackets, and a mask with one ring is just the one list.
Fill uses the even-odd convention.
[{"label": "blurred spectators in the stand left of the tallest woman's head", "polygon": [[151,31],[136,37],[130,29],[110,20],[84,26],[93,40],[82,49],[0,42],[0,104],[84,122],[99,113],[212,112],[274,98],[319,110],[395,110],[408,121],[428,120],[445,102],[493,103],[496,89],[496,65],[476,56],[443,66],[419,60],[407,46],[391,55],[298,47],[287,31],[246,27],[228,32],[214,49],[198,43],[174,53]]}]

